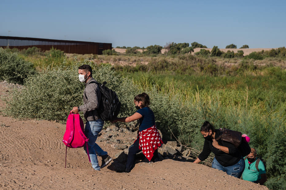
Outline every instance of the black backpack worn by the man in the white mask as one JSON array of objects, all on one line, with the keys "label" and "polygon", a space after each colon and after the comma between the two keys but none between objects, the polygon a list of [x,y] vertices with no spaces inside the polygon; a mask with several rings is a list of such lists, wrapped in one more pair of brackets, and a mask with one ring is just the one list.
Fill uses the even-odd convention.
[{"label": "black backpack worn by the man in the white mask", "polygon": [[101,99],[99,100],[99,108],[97,109],[100,117],[104,121],[110,121],[118,116],[121,103],[119,102],[116,93],[105,86],[106,82],[100,84],[96,83],[101,92]]}]

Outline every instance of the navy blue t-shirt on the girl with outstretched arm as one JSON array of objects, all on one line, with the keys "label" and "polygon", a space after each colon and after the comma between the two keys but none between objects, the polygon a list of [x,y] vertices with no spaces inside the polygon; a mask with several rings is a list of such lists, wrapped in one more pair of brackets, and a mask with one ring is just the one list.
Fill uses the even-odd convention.
[{"label": "navy blue t-shirt on the girl with outstretched arm", "polygon": [[142,117],[139,119],[139,131],[143,131],[155,125],[155,117],[153,111],[149,107],[137,110]]}]

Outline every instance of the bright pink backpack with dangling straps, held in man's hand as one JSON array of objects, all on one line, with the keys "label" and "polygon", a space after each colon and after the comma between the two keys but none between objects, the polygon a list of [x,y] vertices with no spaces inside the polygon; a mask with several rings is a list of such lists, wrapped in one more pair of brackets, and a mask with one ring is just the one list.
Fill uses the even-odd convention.
[{"label": "bright pink backpack with dangling straps, held in man's hand", "polygon": [[[88,138],[85,136],[83,131],[83,120],[81,119],[79,114],[69,114],[68,120],[67,120],[67,126],[66,126],[66,132],[64,133],[64,144],[66,145],[66,162],[65,162],[65,168],[67,166],[67,147],[70,148],[80,148],[83,147],[84,144],[86,144]],[[89,162],[89,152],[87,147],[87,155]]]}]

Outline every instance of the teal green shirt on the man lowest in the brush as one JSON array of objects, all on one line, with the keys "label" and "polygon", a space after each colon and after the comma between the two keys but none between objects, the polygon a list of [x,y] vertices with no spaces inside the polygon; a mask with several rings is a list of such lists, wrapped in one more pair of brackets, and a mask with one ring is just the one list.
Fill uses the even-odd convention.
[{"label": "teal green shirt on the man lowest in the brush", "polygon": [[[247,159],[245,160],[245,169],[242,173],[242,179],[244,179],[246,181],[252,181],[253,182],[253,181],[260,180],[261,174],[266,173],[264,164],[261,160],[258,163],[259,171],[257,171],[257,169],[255,167],[256,160],[257,160],[257,158],[250,165],[248,163],[248,160]],[[249,169],[248,169],[248,167],[249,167]]]}]

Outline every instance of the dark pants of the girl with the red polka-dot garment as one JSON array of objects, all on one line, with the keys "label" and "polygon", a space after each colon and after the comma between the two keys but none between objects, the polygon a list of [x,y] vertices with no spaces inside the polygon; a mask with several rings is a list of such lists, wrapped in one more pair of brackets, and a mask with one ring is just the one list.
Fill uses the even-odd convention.
[{"label": "dark pants of the girl with the red polka-dot garment", "polygon": [[[132,168],[134,161],[135,161],[135,155],[140,152],[139,149],[139,138],[129,147],[128,150],[128,157],[126,162],[126,168]],[[154,151],[153,158],[151,159],[151,162],[157,162],[159,161],[158,156],[158,148]]]}]

